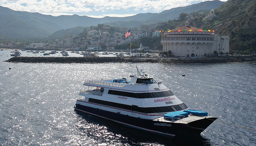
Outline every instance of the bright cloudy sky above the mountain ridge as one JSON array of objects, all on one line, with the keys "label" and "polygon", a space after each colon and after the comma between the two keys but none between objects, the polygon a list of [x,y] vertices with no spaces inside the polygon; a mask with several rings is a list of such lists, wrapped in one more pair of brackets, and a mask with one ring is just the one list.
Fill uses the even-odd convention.
[{"label": "bright cloudy sky above the mountain ridge", "polygon": [[[2,7],[44,15],[80,15],[93,18],[126,17],[197,4],[206,0],[0,0]],[[227,0],[221,0],[227,1]]]}]

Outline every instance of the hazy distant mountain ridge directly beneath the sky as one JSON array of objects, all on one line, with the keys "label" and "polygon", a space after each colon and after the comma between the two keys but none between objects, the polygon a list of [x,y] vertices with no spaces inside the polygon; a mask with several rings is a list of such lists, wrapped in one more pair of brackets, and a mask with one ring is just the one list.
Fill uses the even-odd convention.
[{"label": "hazy distant mountain ridge directly beneath the sky", "polygon": [[[109,23],[112,25],[121,24],[122,27],[139,27],[141,24],[151,24],[173,20],[181,12],[191,13],[200,9],[215,9],[225,2],[214,0],[205,1],[186,7],[178,7],[163,11],[161,13],[145,13],[134,16],[118,18],[104,17],[91,18],[79,15],[51,16],[39,13],[14,11],[0,6],[0,38],[44,38],[58,30],[74,28],[77,26],[90,27],[98,24]],[[125,23],[130,22],[130,23]]]}]

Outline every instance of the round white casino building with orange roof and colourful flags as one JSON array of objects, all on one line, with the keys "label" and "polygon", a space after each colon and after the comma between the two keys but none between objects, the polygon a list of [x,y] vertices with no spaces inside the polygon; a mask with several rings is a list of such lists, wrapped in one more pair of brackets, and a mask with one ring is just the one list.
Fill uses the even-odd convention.
[{"label": "round white casino building with orange roof and colourful flags", "polygon": [[202,57],[211,56],[214,51],[218,53],[229,53],[229,36],[219,36],[212,30],[202,30],[185,26],[163,32],[161,36],[163,52],[172,51],[177,57]]}]

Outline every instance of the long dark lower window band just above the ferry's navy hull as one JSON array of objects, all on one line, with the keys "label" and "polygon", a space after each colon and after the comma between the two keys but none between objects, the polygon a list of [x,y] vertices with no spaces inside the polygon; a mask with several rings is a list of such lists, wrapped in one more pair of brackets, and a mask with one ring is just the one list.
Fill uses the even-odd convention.
[{"label": "long dark lower window band just above the ferry's navy hull", "polygon": [[92,99],[92,98],[89,98],[88,101],[92,102],[92,103],[101,104],[101,105],[107,105],[107,106],[110,106],[110,107],[116,107],[116,108],[121,108],[121,109],[125,109],[125,110],[130,110],[130,111],[137,111],[137,112],[147,113],[147,114],[180,111],[180,110],[185,110],[185,109],[188,108],[184,103],[178,104],[178,105],[165,106],[165,107],[147,107],[147,108],[143,108],[143,107],[138,107],[136,105],[132,106],[132,105],[114,103],[114,102],[110,102],[110,101]]}]

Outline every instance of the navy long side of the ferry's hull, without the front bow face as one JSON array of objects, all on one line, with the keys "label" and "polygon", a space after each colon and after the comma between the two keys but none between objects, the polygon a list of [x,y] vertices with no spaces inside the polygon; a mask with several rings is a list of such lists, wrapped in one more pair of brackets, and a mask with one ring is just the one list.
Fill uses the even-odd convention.
[{"label": "navy long side of the ferry's hull, without the front bow face", "polygon": [[122,115],[114,112],[109,112],[101,110],[98,108],[92,108],[79,104],[79,100],[76,103],[75,109],[81,112],[85,112],[91,115],[99,116],[111,120],[113,122],[122,124],[127,127],[137,128],[146,132],[151,132],[153,134],[158,134],[167,138],[173,138],[175,135],[184,127],[189,127],[185,123],[168,123],[154,120],[147,120],[141,118],[135,118],[132,116]]}]

